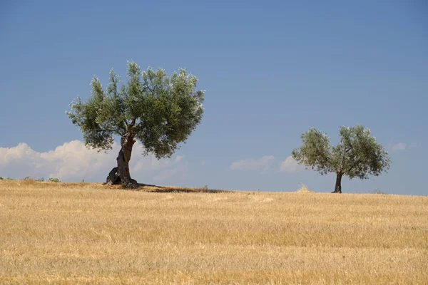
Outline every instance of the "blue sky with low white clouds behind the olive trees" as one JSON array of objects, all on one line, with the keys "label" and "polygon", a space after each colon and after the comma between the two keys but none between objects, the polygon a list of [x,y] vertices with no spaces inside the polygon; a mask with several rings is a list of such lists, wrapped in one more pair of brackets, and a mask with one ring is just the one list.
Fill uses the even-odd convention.
[{"label": "blue sky with low white clouds behind the olive trees", "polygon": [[335,144],[340,125],[361,123],[392,167],[343,191],[428,195],[427,15],[422,0],[1,1],[0,176],[105,180],[116,152],[86,150],[64,111],[94,74],[106,86],[133,60],[185,67],[207,90],[203,122],[171,160],[136,146],[139,182],[330,192],[334,175],[287,157],[312,126]]}]

